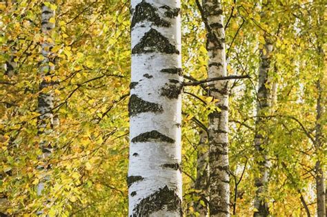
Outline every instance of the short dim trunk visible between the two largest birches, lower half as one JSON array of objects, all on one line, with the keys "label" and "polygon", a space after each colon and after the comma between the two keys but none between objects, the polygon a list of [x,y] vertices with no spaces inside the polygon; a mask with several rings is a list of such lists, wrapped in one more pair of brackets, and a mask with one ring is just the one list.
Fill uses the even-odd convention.
[{"label": "short dim trunk visible between the two largest birches, lower half", "polygon": [[196,203],[195,211],[200,216],[208,216],[208,184],[209,184],[209,149],[208,136],[205,131],[200,132],[200,141],[197,146],[197,179],[195,180],[195,189],[201,190],[199,196],[204,203]]}]

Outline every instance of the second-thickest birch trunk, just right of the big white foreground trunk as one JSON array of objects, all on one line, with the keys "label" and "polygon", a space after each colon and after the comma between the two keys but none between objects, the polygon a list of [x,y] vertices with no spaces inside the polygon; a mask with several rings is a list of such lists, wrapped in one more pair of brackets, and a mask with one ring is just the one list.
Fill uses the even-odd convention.
[{"label": "second-thickest birch trunk, just right of the big white foreground trunk", "polygon": [[[225,30],[221,1],[202,1],[211,31],[207,34],[208,79],[227,76]],[[229,216],[228,81],[210,83],[217,110],[209,114],[210,216]]]}]

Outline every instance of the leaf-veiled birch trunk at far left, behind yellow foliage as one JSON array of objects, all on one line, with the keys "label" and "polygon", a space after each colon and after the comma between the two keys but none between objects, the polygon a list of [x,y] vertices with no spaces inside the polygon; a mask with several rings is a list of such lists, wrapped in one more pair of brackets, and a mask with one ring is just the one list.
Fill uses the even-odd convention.
[{"label": "leaf-veiled birch trunk at far left, behind yellow foliage", "polygon": [[[49,134],[53,128],[53,108],[54,108],[54,96],[51,90],[44,90],[46,87],[53,85],[52,81],[49,81],[51,75],[54,71],[54,54],[51,52],[53,47],[51,33],[54,28],[54,16],[55,11],[50,8],[48,3],[53,4],[54,1],[46,1],[41,8],[41,31],[43,34],[43,43],[41,44],[43,61],[41,62],[41,84],[39,86],[40,94],[38,99],[37,111],[39,112],[38,120],[38,134],[39,136],[44,136]],[[47,168],[45,166],[45,161],[52,152],[52,145],[49,141],[45,141],[41,138],[40,147],[42,149],[42,155],[39,156],[41,161],[44,161],[38,169],[41,170],[43,178],[41,178],[40,183],[37,187],[37,194],[41,196],[44,189],[45,181],[49,179],[47,175]],[[39,211],[38,214],[42,214],[43,211]]]}]

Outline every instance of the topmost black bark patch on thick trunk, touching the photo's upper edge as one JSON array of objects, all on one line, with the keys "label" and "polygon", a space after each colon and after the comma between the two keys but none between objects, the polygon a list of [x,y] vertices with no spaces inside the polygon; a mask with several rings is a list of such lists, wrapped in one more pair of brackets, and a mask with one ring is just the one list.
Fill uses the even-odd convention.
[{"label": "topmost black bark patch on thick trunk, touching the photo's upper edge", "polygon": [[150,5],[150,3],[146,3],[146,1],[141,1],[141,3],[135,7],[135,13],[130,28],[133,28],[137,23],[142,21],[150,21],[157,26],[164,27],[169,27],[171,25],[168,21],[160,19],[159,14],[157,14],[157,8]]}]

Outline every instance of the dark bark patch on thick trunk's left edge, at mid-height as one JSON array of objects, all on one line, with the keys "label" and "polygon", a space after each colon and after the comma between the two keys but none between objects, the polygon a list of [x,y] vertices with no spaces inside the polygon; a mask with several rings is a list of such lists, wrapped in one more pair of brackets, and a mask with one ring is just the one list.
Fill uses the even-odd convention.
[{"label": "dark bark patch on thick trunk's left edge, at mid-height", "polygon": [[139,98],[137,95],[132,94],[130,96],[130,102],[128,103],[128,112],[130,116],[135,116],[139,113],[143,112],[164,112],[162,106],[157,103],[151,103],[148,101],[144,101]]}]

